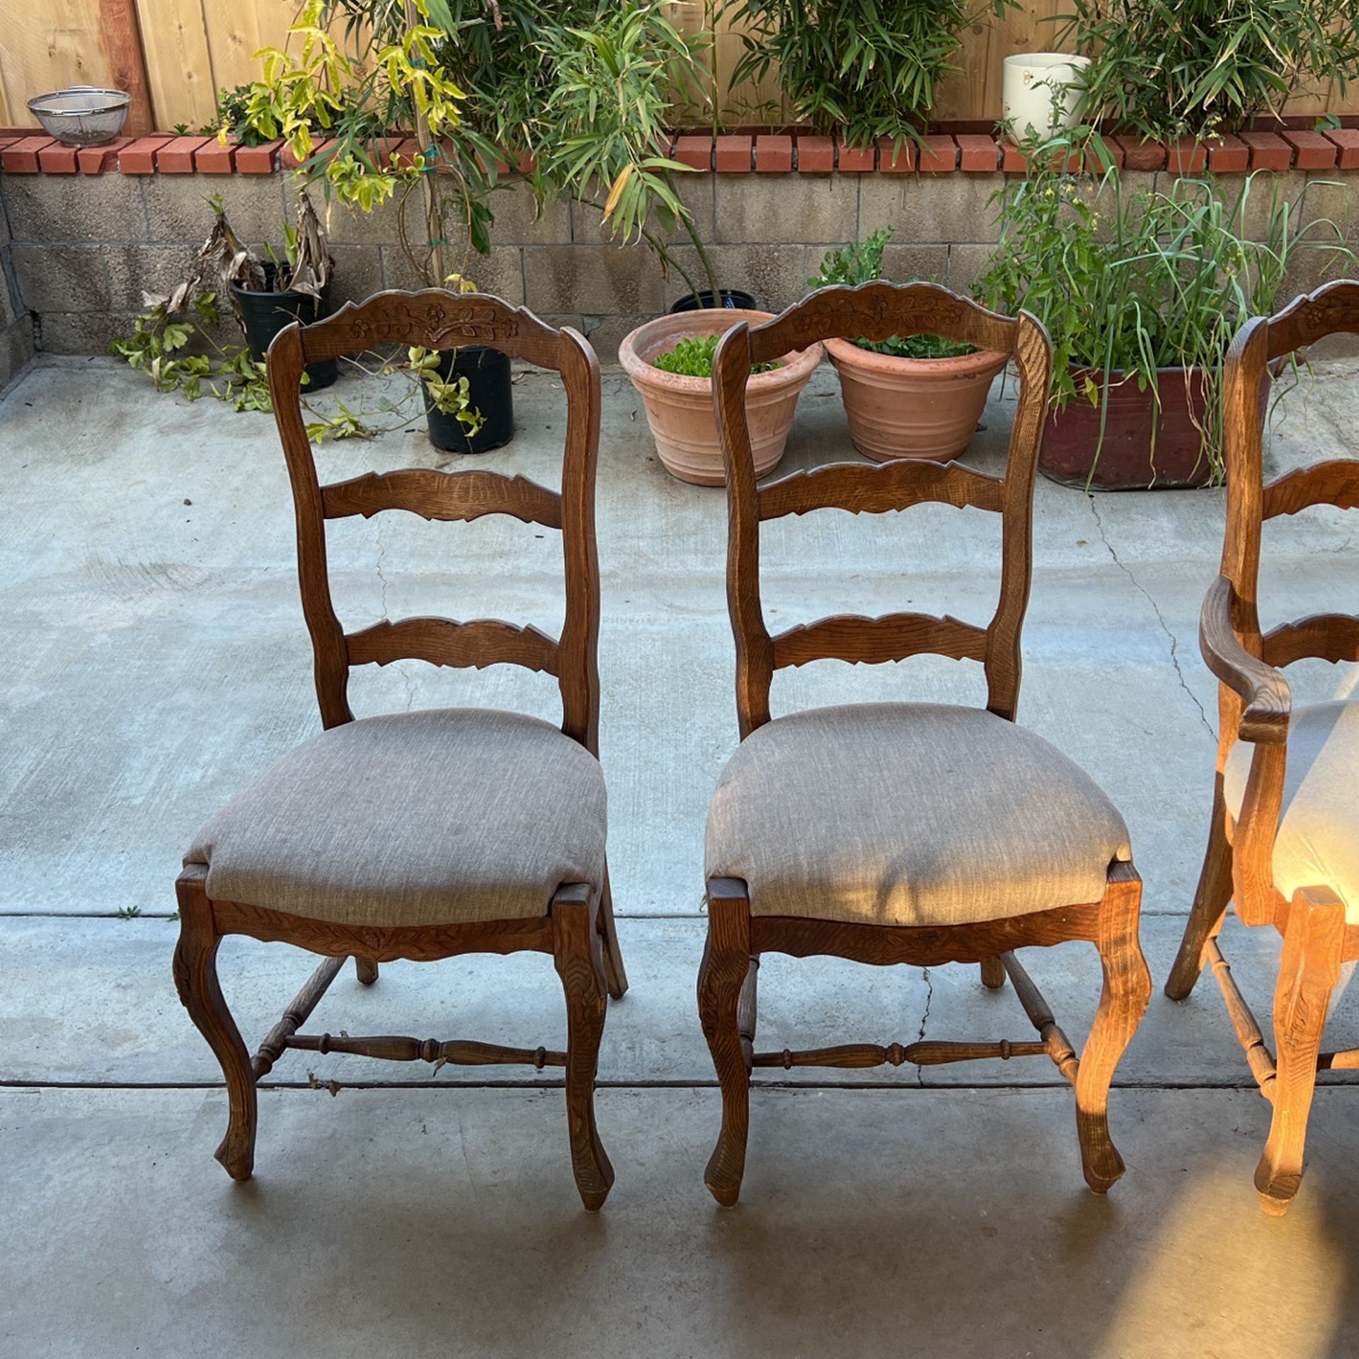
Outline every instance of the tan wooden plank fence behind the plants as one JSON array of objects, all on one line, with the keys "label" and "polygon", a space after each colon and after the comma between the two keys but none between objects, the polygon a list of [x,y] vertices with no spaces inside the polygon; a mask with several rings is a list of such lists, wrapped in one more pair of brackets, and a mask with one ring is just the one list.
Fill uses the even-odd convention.
[{"label": "tan wooden plank fence behind the plants", "polygon": [[[1065,0],[1029,0],[1003,20],[978,23],[954,58],[961,68],[940,94],[935,118],[993,121],[1000,117],[1000,71],[1012,52],[1052,46],[1052,15]],[[711,23],[713,0],[671,0],[666,10],[684,31]],[[283,45],[298,0],[0,0],[0,124],[34,120],[26,101],[69,84],[132,90],[129,130],[198,128],[211,121],[216,91],[258,75],[251,54]],[[713,80],[726,90],[741,56],[741,37],[719,22]],[[758,87],[726,95],[733,124],[790,122],[794,111],[773,75]],[[1359,113],[1359,88],[1341,101],[1335,88],[1309,91],[1291,114]]]}]

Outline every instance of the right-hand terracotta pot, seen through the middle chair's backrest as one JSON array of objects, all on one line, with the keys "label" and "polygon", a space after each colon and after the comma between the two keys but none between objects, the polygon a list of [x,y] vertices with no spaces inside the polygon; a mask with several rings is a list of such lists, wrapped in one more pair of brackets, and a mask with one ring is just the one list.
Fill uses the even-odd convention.
[{"label": "right-hand terracotta pot, seen through the middle chair's backrest", "polygon": [[978,349],[958,359],[901,359],[828,340],[840,374],[849,438],[866,457],[947,462],[972,442],[991,381],[1008,355]]}]

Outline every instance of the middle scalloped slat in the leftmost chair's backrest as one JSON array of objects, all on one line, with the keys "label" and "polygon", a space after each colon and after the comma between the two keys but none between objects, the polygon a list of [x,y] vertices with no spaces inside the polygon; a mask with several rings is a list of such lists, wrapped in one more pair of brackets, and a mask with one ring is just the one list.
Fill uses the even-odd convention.
[{"label": "middle scalloped slat in the leftmost chair's backrest", "polygon": [[406,510],[421,519],[443,522],[480,519],[488,514],[512,515],[525,523],[561,527],[561,496],[527,477],[499,472],[435,472],[405,467],[400,472],[367,472],[349,481],[321,488],[328,519],[361,514],[364,519],[383,510]]}]

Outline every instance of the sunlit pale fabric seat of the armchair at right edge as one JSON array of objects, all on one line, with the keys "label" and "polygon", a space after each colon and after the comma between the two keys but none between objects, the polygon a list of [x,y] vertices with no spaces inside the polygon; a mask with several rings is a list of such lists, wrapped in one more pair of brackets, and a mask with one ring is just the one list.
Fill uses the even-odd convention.
[{"label": "sunlit pale fabric seat of the armchair at right edge", "polygon": [[[1222,792],[1233,819],[1241,815],[1254,746],[1238,741],[1227,756]],[[1284,897],[1299,887],[1330,887],[1359,923],[1359,703],[1294,708],[1288,764],[1275,839],[1275,886]]]}]

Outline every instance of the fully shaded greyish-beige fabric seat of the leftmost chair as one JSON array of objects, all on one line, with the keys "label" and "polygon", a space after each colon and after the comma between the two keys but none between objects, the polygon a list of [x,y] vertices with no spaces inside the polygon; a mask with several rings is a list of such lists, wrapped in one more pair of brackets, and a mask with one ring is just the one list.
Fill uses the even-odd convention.
[{"label": "fully shaded greyish-beige fabric seat of the leftmost chair", "polygon": [[603,883],[599,761],[478,708],[351,722],[298,746],[197,834],[208,896],[361,925],[542,916]]}]

